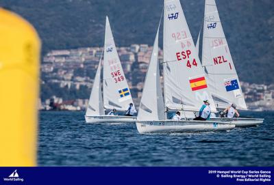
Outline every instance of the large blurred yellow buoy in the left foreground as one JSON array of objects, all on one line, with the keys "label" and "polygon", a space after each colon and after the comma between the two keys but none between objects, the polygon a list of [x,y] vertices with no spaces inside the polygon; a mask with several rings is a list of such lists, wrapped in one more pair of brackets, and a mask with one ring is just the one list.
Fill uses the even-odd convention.
[{"label": "large blurred yellow buoy in the left foreground", "polygon": [[0,166],[35,166],[40,39],[0,8]]}]

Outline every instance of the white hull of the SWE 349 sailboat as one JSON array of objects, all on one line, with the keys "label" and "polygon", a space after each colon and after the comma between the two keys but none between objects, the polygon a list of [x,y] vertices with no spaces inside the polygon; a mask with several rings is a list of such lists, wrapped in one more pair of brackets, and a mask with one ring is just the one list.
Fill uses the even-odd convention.
[{"label": "white hull of the SWE 349 sailboat", "polygon": [[86,123],[123,123],[123,122],[135,122],[136,116],[125,115],[85,115]]}]

